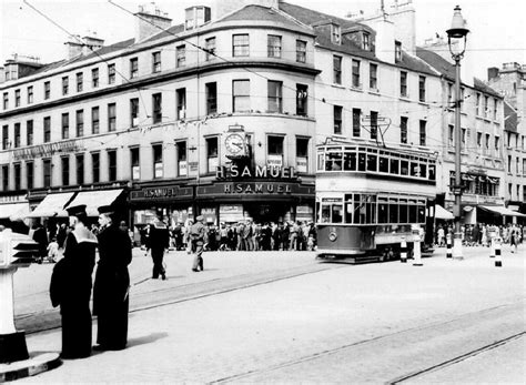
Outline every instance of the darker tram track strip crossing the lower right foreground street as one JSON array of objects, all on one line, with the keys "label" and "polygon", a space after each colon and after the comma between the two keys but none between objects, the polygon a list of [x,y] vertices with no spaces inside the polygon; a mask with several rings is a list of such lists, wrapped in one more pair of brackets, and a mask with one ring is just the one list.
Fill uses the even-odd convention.
[{"label": "darker tram track strip crossing the lower right foreground street", "polygon": [[[334,348],[311,353],[267,367],[253,368],[243,373],[224,376],[209,383],[279,381],[292,383],[374,382],[401,384],[455,365],[525,336],[526,326],[522,322],[524,306],[524,300],[520,300],[513,304],[465,313],[446,321],[350,342]],[[478,323],[475,321],[478,321]],[[500,322],[505,325],[513,324],[513,327],[507,333],[497,333],[498,336],[495,336],[495,333],[481,332],[494,331],[495,326],[500,324]],[[453,344],[449,343],[449,348],[438,348],[439,354],[435,352],[435,355],[432,354],[428,357],[421,356],[415,359],[413,352],[419,352],[422,343],[428,343],[432,340],[436,340],[437,336],[448,342],[455,341],[456,336],[462,334],[459,332],[465,330],[467,331],[464,337]],[[473,338],[473,336],[478,338]],[[407,359],[407,357],[401,359],[399,356],[412,357],[411,359]],[[404,359],[408,362],[408,365],[403,364]],[[340,366],[342,372],[340,376],[334,377],[334,369]],[[415,366],[416,368],[407,371],[407,367]],[[327,369],[327,373],[324,373],[326,367],[330,369]],[[396,375],[393,375],[393,373],[396,373]]]}]

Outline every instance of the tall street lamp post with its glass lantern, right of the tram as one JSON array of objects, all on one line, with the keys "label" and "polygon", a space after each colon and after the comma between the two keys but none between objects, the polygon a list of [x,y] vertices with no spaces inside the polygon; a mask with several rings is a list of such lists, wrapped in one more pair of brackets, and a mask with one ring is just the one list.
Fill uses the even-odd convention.
[{"label": "tall street lamp post with its glass lantern, right of the tram", "polygon": [[461,7],[456,6],[453,14],[452,28],[447,31],[447,43],[449,52],[455,61],[455,234],[453,243],[453,257],[463,259],[462,253],[462,230],[461,230],[461,202],[462,202],[462,178],[461,178],[461,60],[466,51],[467,33],[466,21],[462,17]]}]

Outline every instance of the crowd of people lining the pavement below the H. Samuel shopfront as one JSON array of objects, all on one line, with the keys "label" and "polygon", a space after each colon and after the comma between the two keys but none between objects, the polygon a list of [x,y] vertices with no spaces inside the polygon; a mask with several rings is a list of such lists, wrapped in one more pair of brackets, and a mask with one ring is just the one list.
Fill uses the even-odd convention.
[{"label": "crowd of people lining the pavement below the H. Samuel shopfront", "polygon": [[[179,222],[169,229],[170,246],[191,252],[192,220]],[[141,244],[150,245],[151,225],[141,232]],[[237,223],[204,224],[204,250],[208,251],[313,251],[316,247],[316,227],[313,222],[264,222],[251,220]]]}]

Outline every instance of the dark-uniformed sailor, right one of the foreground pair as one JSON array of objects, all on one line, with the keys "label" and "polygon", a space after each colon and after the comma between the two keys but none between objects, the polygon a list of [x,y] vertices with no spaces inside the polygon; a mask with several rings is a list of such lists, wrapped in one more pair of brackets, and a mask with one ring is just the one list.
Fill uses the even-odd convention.
[{"label": "dark-uniformed sailor, right one of the foreground pair", "polygon": [[132,246],[128,231],[122,231],[115,222],[115,207],[99,207],[99,263],[93,285],[97,351],[120,351],[128,342],[128,265]]}]

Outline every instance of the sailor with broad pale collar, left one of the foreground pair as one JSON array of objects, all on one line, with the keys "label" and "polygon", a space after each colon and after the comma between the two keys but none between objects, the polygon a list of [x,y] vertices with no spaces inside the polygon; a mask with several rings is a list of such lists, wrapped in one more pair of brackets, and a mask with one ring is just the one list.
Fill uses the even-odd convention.
[{"label": "sailor with broad pale collar, left one of the foreground pair", "polygon": [[65,239],[64,257],[53,269],[50,295],[52,305],[60,305],[61,358],[83,358],[91,354],[91,274],[97,237],[87,227],[84,204],[67,211],[73,230]]}]

